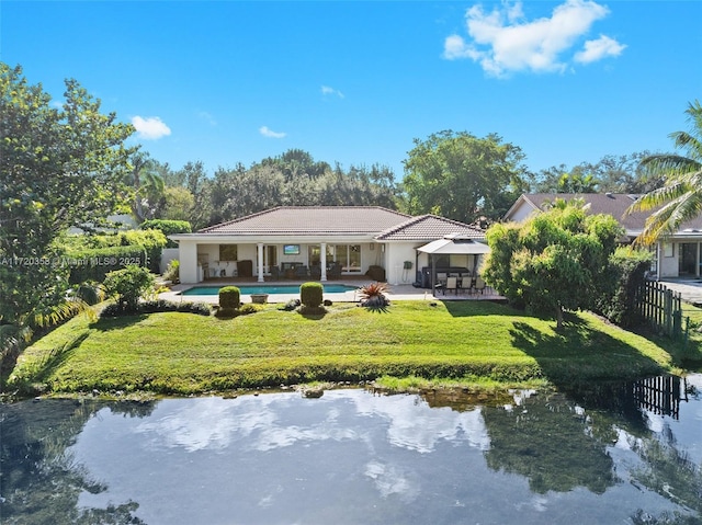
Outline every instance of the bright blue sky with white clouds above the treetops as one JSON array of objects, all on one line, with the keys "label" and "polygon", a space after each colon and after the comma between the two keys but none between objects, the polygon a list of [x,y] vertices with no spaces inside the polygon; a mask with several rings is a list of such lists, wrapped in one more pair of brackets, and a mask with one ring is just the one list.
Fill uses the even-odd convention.
[{"label": "bright blue sky with white clouds above the treetops", "polygon": [[8,1],[0,59],[77,79],[131,142],[212,173],[301,148],[401,179],[412,140],[497,133],[537,171],[670,151],[702,1]]}]

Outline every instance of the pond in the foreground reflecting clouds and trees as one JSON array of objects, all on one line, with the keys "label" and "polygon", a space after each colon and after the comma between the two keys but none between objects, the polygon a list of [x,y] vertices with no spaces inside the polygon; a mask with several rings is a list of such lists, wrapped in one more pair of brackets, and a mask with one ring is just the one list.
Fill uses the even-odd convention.
[{"label": "pond in the foreground reflecting clouds and trees", "polygon": [[702,522],[699,374],[0,410],[4,525]]}]

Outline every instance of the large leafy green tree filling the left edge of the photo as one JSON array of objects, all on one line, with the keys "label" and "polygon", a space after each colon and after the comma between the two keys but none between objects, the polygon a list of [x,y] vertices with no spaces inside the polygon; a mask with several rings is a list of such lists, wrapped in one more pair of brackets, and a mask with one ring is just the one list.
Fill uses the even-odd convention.
[{"label": "large leafy green tree filling the left edge of the photo", "polygon": [[102,114],[76,80],[64,98],[55,107],[21,67],[0,62],[0,338],[66,297],[54,240],[124,205],[134,152],[124,140],[134,128]]}]

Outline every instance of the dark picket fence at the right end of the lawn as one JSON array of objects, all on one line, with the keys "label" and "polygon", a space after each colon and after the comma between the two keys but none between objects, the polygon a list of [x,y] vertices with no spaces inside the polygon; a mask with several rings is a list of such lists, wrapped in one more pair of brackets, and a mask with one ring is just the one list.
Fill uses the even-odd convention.
[{"label": "dark picket fence at the right end of the lawn", "polygon": [[682,298],[655,281],[646,281],[641,287],[636,307],[638,315],[654,330],[671,339],[680,339],[682,330]]}]

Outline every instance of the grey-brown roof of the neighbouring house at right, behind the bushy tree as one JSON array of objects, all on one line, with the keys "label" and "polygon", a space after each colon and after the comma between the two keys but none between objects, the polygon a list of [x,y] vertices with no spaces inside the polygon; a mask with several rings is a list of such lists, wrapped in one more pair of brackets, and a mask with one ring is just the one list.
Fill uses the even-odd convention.
[{"label": "grey-brown roof of the neighbouring house at right, behind the bushy tree", "polygon": [[[646,219],[652,214],[650,210],[626,214],[629,207],[638,197],[639,195],[624,193],[530,193],[521,195],[505,214],[505,218],[513,219],[524,207],[533,212],[543,210],[545,205],[553,203],[556,198],[564,201],[581,198],[589,205],[591,214],[611,215],[624,227],[627,236],[635,237],[643,231]],[[686,222],[680,229],[702,229],[702,217]]]}]

